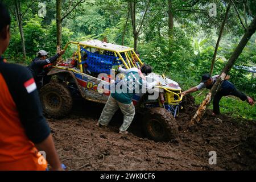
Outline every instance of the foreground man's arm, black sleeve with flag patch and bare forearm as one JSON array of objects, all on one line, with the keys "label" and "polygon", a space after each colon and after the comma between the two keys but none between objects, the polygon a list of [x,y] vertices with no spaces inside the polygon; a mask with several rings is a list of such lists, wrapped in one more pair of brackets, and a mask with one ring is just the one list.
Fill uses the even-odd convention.
[{"label": "foreground man's arm, black sleeve with flag patch and bare forearm", "polygon": [[43,116],[38,90],[34,78],[26,67],[14,65],[10,69],[15,73],[10,75],[6,70],[10,93],[16,104],[20,122],[28,139],[38,150],[46,152],[47,161],[54,170],[61,169],[61,164],[51,136],[51,130]]}]

